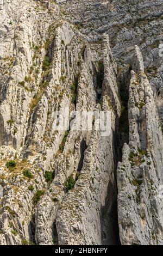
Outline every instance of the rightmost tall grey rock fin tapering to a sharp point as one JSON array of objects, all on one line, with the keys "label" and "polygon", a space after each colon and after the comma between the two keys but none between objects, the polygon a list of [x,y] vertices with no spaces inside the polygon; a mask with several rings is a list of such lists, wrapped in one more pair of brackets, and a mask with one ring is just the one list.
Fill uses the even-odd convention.
[{"label": "rightmost tall grey rock fin tapering to a sharp point", "polygon": [[118,163],[118,223],[123,245],[162,245],[162,132],[153,91],[135,46],[129,86],[129,144]]}]

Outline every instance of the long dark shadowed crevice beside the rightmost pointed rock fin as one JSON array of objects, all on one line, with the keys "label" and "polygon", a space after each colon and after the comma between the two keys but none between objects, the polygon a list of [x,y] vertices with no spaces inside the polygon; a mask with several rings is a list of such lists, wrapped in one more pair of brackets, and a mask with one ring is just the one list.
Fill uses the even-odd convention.
[{"label": "long dark shadowed crevice beside the rightmost pointed rock fin", "polygon": [[114,184],[108,185],[105,206],[101,209],[102,243],[103,245],[121,245],[117,214],[117,164],[122,160],[124,143],[129,141],[128,100],[130,69],[118,76],[119,96],[121,101],[121,117],[116,115],[116,130],[112,131],[112,148],[114,154]]}]

